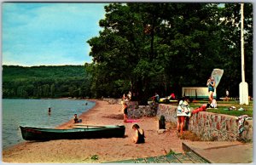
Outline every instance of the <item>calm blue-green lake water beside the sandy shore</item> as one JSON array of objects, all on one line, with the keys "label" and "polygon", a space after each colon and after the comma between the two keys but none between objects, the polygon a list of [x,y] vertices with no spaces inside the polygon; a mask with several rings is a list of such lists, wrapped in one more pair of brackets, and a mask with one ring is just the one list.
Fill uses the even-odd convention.
[{"label": "calm blue-green lake water beside the sandy shore", "polygon": [[[86,105],[87,103],[87,105]],[[25,141],[19,126],[55,128],[95,105],[87,100],[2,100],[3,149]],[[48,114],[48,108],[51,113]]]}]

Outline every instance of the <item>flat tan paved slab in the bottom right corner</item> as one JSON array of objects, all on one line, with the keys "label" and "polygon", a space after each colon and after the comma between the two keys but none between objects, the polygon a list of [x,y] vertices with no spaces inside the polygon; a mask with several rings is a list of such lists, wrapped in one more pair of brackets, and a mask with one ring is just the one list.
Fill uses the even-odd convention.
[{"label": "flat tan paved slab in the bottom right corner", "polygon": [[[252,163],[253,143],[239,141],[186,141],[185,153],[194,153],[209,163]],[[189,155],[193,160],[193,156]]]}]

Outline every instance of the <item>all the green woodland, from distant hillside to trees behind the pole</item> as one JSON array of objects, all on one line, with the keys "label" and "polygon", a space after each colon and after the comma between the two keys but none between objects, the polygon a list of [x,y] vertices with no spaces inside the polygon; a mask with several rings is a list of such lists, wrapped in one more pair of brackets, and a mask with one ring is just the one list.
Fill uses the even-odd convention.
[{"label": "all the green woodland, from distant hillside to trees behind the pole", "polygon": [[[206,87],[224,70],[218,97],[239,96],[240,3],[110,3],[90,38],[92,63],[3,65],[3,98],[120,98],[131,91],[140,105],[157,92],[182,96],[182,87]],[[253,96],[253,4],[244,3],[245,77]]]}]

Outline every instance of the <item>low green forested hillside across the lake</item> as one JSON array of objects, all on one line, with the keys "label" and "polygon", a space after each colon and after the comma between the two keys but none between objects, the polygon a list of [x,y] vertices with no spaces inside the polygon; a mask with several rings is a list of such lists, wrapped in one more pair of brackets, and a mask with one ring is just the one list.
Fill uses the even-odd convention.
[{"label": "low green forested hillside across the lake", "polygon": [[3,98],[90,97],[84,65],[3,65]]}]

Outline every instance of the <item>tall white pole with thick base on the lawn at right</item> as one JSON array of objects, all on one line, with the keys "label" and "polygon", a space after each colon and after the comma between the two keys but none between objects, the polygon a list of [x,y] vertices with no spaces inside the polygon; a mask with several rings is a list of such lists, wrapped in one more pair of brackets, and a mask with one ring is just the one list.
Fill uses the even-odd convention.
[{"label": "tall white pole with thick base on the lawn at right", "polygon": [[244,66],[244,37],[243,37],[243,6],[241,3],[241,83],[239,84],[239,100],[240,105],[248,105],[248,84],[245,82],[245,66]]}]

